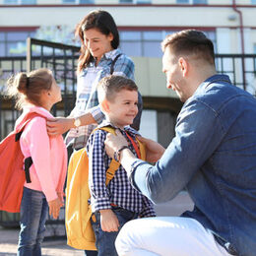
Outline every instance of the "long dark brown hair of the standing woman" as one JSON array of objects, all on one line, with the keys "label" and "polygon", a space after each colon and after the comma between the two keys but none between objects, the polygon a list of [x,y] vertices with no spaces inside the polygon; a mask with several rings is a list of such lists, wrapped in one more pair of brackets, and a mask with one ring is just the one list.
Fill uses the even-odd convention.
[{"label": "long dark brown hair of the standing woman", "polygon": [[96,29],[105,35],[109,35],[109,33],[111,32],[113,34],[113,40],[111,41],[112,48],[116,49],[119,46],[119,33],[113,17],[106,11],[102,10],[95,10],[90,12],[77,25],[75,32],[76,36],[79,36],[81,40],[81,55],[78,61],[78,73],[80,73],[83,68],[86,68],[87,65],[94,59],[89,49],[87,49],[84,40],[84,32],[91,29]]}]

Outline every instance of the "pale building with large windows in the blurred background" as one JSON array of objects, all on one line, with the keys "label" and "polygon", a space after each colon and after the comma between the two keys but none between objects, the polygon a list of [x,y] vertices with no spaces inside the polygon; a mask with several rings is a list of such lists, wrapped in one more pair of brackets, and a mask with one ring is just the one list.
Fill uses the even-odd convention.
[{"label": "pale building with large windows in the blurred background", "polygon": [[[95,9],[113,16],[120,48],[135,62],[144,97],[144,136],[167,146],[182,106],[161,73],[160,42],[168,33],[205,32],[219,54],[219,72],[255,94],[256,0],[0,0],[0,89],[6,83],[4,70],[11,70],[3,60],[26,56],[27,37],[79,46],[75,26]],[[2,125],[8,116],[1,117]]]}]

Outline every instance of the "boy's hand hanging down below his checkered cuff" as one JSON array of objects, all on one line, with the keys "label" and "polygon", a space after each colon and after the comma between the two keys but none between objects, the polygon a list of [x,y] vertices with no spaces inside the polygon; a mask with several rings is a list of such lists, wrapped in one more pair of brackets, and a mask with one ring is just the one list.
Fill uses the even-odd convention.
[{"label": "boy's hand hanging down below his checkered cuff", "polygon": [[119,222],[111,209],[100,210],[100,225],[105,232],[118,231]]}]

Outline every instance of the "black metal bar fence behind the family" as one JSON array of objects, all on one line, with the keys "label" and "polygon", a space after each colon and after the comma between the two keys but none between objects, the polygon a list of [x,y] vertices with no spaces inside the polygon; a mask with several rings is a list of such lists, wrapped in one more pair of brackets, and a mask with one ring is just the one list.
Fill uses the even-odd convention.
[{"label": "black metal bar fence behind the family", "polygon": [[[41,67],[49,68],[53,71],[57,83],[61,85],[63,98],[61,103],[53,107],[53,115],[66,116],[74,107],[76,100],[79,49],[76,46],[28,38],[27,58],[0,57],[0,92],[4,90],[6,81],[12,74],[29,72]],[[256,54],[217,54],[216,67],[218,73],[230,77],[234,86],[255,95]],[[14,108],[12,100],[0,96],[0,139],[13,130],[20,114],[21,112]],[[0,224],[17,224],[19,215],[3,221],[5,218],[5,214],[0,212]],[[62,218],[64,217],[58,221],[49,220],[48,224],[54,228],[56,224],[63,224]]]}]

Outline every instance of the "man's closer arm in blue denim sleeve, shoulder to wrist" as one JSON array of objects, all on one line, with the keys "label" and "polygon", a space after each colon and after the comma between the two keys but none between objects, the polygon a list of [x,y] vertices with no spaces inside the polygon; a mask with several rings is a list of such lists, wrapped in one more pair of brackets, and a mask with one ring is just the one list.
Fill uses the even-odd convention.
[{"label": "man's closer arm in blue denim sleeve, shoulder to wrist", "polygon": [[128,149],[120,156],[133,185],[155,203],[169,201],[182,190],[223,137],[216,112],[197,101],[182,109],[175,132],[176,137],[155,166],[136,160]]}]

